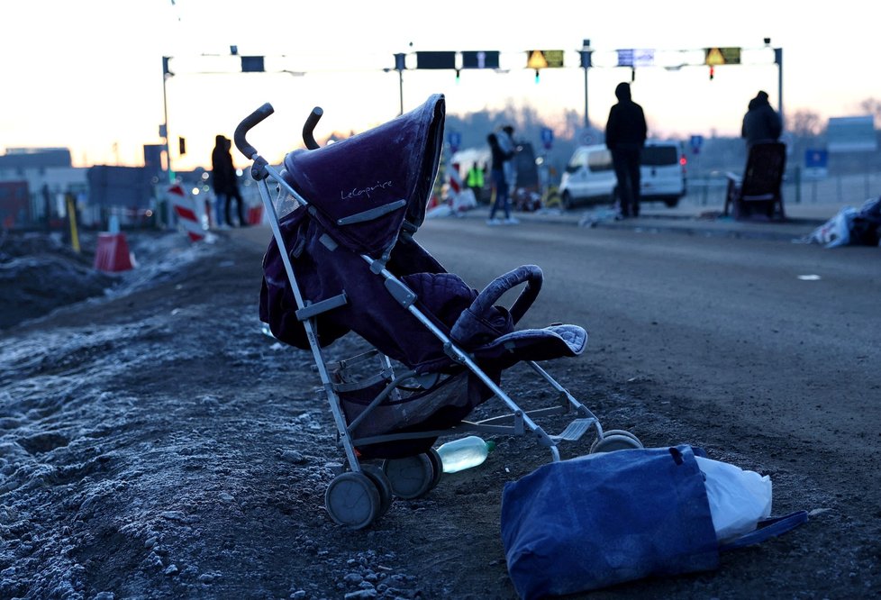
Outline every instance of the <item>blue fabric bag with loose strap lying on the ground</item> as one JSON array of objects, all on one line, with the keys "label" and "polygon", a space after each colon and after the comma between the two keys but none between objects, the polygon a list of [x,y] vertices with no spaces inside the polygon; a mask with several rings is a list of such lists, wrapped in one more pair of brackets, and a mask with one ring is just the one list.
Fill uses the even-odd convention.
[{"label": "blue fabric bag with loose strap lying on the ground", "polygon": [[717,568],[719,552],[786,532],[804,511],[720,545],[688,445],[551,462],[504,486],[508,573],[526,599]]}]

